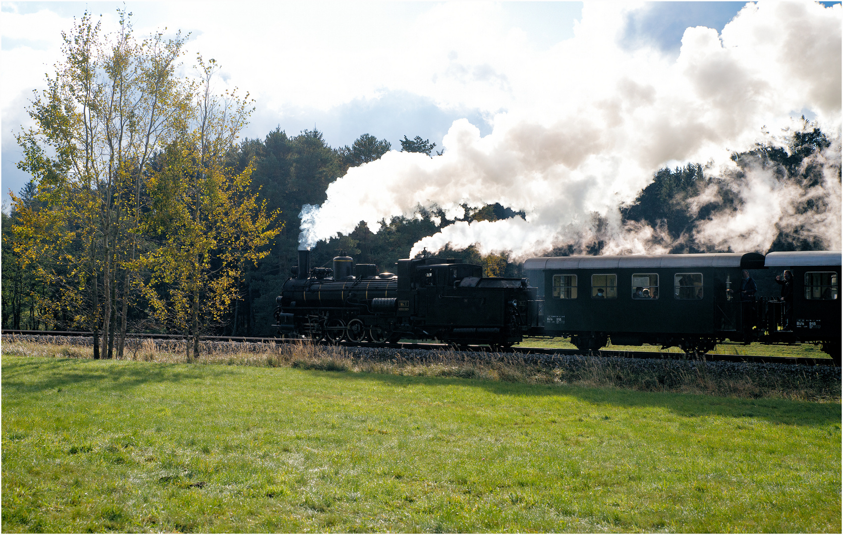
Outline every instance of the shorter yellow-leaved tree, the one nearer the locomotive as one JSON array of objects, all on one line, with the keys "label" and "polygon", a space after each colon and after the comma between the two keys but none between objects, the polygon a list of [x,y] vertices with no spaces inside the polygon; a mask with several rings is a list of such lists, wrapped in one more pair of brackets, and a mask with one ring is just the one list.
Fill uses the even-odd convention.
[{"label": "shorter yellow-leaved tree, the one nearer the locomotive", "polygon": [[197,62],[196,104],[185,131],[149,174],[141,226],[158,242],[142,256],[151,273],[144,295],[161,324],[191,337],[188,361],[199,354],[201,334],[224,323],[244,265],[266,256],[263,246],[280,232],[271,228],[277,213],[267,215],[266,201],[250,190],[252,166],[236,173],[225,165],[252,101],[236,90],[212,94],[217,64],[201,56]]}]

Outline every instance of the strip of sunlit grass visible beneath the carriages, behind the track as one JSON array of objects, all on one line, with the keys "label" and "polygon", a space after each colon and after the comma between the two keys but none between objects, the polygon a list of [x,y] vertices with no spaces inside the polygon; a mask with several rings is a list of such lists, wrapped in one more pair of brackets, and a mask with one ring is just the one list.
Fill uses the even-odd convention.
[{"label": "strip of sunlit grass visible beneath the carriages, behind the track", "polygon": [[[516,347],[553,347],[561,349],[577,349],[569,338],[525,338]],[[679,347],[668,347],[663,350],[661,345],[607,345],[606,350],[613,351],[664,351],[667,353],[684,353]],[[793,345],[765,345],[753,342],[749,345],[742,344],[719,344],[711,351],[721,355],[753,355],[753,356],[794,356],[813,359],[831,358],[820,349],[819,345],[793,344]]]}]

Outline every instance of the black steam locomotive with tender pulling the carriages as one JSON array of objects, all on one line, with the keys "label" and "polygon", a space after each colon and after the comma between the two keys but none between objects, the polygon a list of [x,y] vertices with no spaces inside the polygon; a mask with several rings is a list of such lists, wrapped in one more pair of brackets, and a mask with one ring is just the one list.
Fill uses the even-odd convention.
[{"label": "black steam locomotive with tender pulling the carriages", "polygon": [[298,251],[293,278],[277,297],[279,334],[331,342],[442,340],[507,348],[538,325],[540,303],[527,279],[484,277],[460,259],[403,259],[397,274],[353,265],[341,252],[333,269],[309,269]]}]

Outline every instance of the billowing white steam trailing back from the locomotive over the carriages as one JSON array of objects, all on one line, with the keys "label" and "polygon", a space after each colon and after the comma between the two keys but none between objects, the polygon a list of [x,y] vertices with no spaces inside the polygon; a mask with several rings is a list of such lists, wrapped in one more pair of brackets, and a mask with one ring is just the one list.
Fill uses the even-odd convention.
[{"label": "billowing white steam trailing back from the locomotive over the carriages", "polygon": [[[361,221],[378,232],[382,220],[411,217],[419,205],[452,219],[464,203],[498,202],[525,217],[455,222],[416,243],[411,256],[449,243],[520,259],[582,245],[598,232],[604,253],[663,252],[662,229],[624,226],[618,211],[654,171],[701,162],[706,174],[729,176],[733,152],[782,143],[798,127],[792,118],[808,113],[831,137],[819,162],[825,178],[806,186],[769,170],[744,173],[731,186],[738,214],[715,215],[696,234],[712,248],[763,251],[780,229],[798,228],[839,249],[840,5],[749,3],[721,35],[686,29],[676,59],[616,45],[624,9],[587,3],[571,40],[518,72],[518,82],[509,78],[513,99],[494,115],[490,135],[457,120],[442,156],[393,151],[349,169],[322,206],[304,207],[300,248]],[[803,210],[808,199],[822,201],[822,210]],[[690,207],[706,201],[717,195],[704,192]]]}]

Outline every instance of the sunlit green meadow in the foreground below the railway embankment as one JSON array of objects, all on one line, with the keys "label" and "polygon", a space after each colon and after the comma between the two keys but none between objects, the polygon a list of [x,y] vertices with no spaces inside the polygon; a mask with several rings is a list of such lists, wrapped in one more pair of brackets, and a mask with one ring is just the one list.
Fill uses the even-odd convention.
[{"label": "sunlit green meadow in the foreground below the railway embankment", "polygon": [[3,356],[3,531],[840,532],[840,403]]}]

